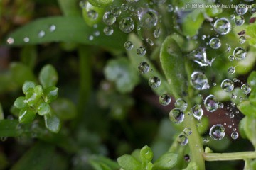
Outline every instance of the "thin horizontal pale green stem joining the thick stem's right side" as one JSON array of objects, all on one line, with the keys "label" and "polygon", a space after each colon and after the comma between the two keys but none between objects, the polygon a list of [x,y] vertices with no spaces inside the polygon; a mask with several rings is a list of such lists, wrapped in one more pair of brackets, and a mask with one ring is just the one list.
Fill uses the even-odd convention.
[{"label": "thin horizontal pale green stem joining the thick stem's right side", "polygon": [[242,159],[255,159],[256,152],[234,152],[234,153],[208,153],[203,154],[206,161],[231,161]]}]

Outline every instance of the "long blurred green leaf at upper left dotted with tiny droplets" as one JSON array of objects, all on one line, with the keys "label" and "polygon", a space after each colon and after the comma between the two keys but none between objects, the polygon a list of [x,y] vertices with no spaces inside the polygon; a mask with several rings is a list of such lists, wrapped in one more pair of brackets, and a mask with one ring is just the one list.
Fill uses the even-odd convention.
[{"label": "long blurred green leaf at upper left dotted with tiny droplets", "polygon": [[[55,26],[55,30],[50,31],[50,26]],[[87,26],[85,21],[80,17],[55,16],[51,18],[41,18],[28,23],[26,26],[15,30],[7,38],[14,38],[12,45],[35,45],[46,42],[75,42],[120,49],[127,39],[127,35],[122,33],[121,30],[115,29],[114,33],[109,37],[103,33],[103,27],[103,24],[99,24],[97,29]],[[100,36],[95,36],[93,40],[89,40],[89,36],[94,35],[97,30],[100,31]],[[38,36],[39,32],[45,33],[44,36],[40,38]],[[29,42],[23,41],[25,37],[29,38]]]}]

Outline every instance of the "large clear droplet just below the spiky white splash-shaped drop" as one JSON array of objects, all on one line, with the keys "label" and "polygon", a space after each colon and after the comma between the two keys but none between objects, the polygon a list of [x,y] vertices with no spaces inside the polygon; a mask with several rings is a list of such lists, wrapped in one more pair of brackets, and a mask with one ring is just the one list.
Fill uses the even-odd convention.
[{"label": "large clear droplet just below the spiky white splash-shaped drop", "polygon": [[202,72],[193,72],[191,74],[191,85],[198,90],[205,90],[210,87],[206,75]]}]

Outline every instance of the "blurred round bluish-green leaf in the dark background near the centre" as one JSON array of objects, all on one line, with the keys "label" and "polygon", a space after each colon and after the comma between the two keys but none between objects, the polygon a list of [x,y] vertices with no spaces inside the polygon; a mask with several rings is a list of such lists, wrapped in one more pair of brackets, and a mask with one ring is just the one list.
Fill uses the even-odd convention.
[{"label": "blurred round bluish-green leaf in the dark background near the centre", "polygon": [[104,69],[104,73],[108,80],[115,82],[117,90],[122,93],[132,91],[134,86],[139,83],[137,72],[124,57],[116,60],[109,60]]}]

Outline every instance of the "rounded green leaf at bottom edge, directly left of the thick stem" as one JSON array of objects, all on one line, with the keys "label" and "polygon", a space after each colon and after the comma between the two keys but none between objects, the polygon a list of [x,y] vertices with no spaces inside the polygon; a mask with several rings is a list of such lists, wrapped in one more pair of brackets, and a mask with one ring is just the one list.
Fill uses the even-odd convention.
[{"label": "rounded green leaf at bottom edge, directly left of the thick stem", "polygon": [[178,162],[178,154],[166,152],[154,162],[154,169],[171,169]]}]

